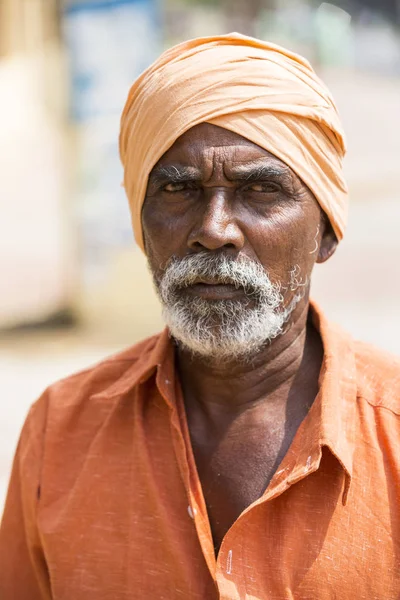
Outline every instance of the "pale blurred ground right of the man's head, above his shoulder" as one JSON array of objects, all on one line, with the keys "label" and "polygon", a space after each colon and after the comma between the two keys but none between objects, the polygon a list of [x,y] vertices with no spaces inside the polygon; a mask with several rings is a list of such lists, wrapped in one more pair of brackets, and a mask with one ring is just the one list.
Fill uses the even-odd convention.
[{"label": "pale blurred ground right of the man's head, above his shoulder", "polygon": [[313,295],[355,337],[400,354],[400,83],[326,72],[348,138],[349,224]]}]

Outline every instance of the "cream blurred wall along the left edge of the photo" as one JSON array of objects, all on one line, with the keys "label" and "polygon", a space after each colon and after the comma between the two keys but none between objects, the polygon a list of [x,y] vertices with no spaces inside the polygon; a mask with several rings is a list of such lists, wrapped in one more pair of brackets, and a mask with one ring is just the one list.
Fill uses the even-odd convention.
[{"label": "cream blurred wall along the left edge of the photo", "polygon": [[0,327],[72,301],[66,78],[52,0],[2,0]]}]

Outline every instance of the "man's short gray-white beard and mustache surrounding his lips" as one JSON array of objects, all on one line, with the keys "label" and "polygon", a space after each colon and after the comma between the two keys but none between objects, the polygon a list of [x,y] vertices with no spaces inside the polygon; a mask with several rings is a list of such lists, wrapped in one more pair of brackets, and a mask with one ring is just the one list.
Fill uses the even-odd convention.
[{"label": "man's short gray-white beard and mustache surrounding his lips", "polygon": [[[185,293],[199,277],[242,288],[244,297],[210,301]],[[249,360],[282,333],[303,295],[294,294],[285,308],[281,285],[271,282],[260,263],[209,253],[173,258],[154,280],[175,340],[193,354],[219,361]]]}]

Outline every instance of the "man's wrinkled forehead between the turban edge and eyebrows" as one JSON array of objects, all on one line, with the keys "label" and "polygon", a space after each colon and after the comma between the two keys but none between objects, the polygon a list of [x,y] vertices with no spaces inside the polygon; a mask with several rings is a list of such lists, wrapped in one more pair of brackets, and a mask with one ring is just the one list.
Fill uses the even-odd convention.
[{"label": "man's wrinkled forehead between the turban edge and eyebrows", "polygon": [[279,158],[241,135],[211,123],[200,123],[182,134],[161,157],[159,164],[182,161],[197,163],[217,154],[233,163],[264,159],[287,165]]}]

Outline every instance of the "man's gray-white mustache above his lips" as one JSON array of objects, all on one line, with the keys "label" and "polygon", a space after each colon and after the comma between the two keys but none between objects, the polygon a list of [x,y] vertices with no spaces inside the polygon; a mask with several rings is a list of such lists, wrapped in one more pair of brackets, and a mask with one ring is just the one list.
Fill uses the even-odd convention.
[{"label": "man's gray-white mustache above his lips", "polygon": [[275,292],[273,284],[261,263],[248,257],[233,258],[224,254],[200,252],[183,258],[172,257],[159,280],[160,292],[182,290],[201,280],[216,284],[230,284],[243,288],[247,295],[262,296]]}]

